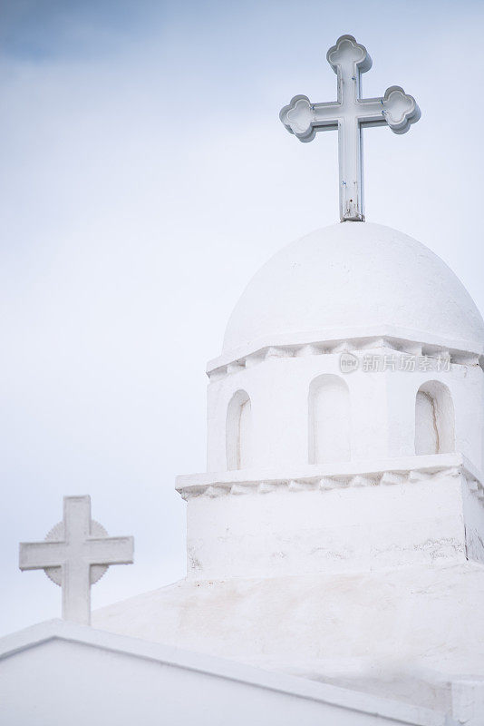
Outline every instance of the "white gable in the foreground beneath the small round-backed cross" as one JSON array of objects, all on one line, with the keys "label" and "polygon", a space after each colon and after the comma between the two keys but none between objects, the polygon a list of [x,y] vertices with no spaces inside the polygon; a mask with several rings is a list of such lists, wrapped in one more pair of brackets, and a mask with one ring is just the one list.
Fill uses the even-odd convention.
[{"label": "white gable in the foreground beneath the small round-backed cross", "polygon": [[450,723],[442,713],[408,703],[67,621],[38,623],[0,640],[0,661],[5,723],[56,724],[67,718],[75,725],[99,722],[107,713],[120,726],[243,724],[257,722],[261,713],[266,723],[282,723],[284,717],[287,726],[321,719],[348,723],[349,716],[355,726]]}]

